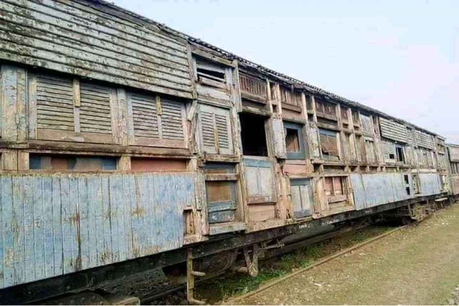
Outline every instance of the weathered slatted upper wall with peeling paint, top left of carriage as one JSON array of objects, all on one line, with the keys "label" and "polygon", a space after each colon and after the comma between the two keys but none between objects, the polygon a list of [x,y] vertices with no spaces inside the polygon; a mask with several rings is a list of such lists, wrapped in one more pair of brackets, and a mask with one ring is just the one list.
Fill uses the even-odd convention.
[{"label": "weathered slatted upper wall with peeling paint, top left of carriage", "polygon": [[184,39],[99,8],[90,1],[0,2],[0,59],[191,97]]}]

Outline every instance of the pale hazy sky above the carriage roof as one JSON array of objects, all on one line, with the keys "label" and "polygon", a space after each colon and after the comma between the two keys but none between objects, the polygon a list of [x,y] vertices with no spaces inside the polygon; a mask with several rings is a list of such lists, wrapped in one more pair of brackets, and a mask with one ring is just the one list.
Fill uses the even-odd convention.
[{"label": "pale hazy sky above the carriage roof", "polygon": [[459,143],[459,1],[114,3]]}]

